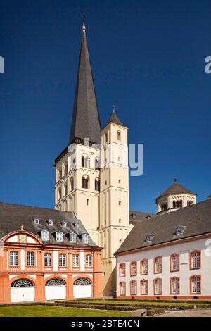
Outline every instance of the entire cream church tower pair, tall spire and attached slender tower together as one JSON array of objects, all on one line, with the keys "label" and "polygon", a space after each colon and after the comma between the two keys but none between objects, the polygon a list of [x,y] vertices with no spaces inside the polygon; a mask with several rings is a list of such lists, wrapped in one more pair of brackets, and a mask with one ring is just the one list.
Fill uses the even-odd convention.
[{"label": "entire cream church tower pair, tall spire and attached slender tower together", "polygon": [[55,160],[55,208],[74,211],[103,249],[103,294],[115,294],[115,256],[129,227],[127,127],[113,111],[101,130],[86,27],[72,111],[70,141]]}]

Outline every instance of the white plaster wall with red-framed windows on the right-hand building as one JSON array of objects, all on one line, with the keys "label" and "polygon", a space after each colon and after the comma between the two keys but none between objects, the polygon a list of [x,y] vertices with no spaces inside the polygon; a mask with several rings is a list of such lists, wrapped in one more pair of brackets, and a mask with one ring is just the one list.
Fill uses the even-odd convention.
[{"label": "white plaster wall with red-framed windows on the right-hand building", "polygon": [[[211,236],[210,236],[211,239]],[[141,296],[140,281],[148,280],[148,296],[154,296],[153,280],[157,277],[162,278],[162,295],[170,296],[170,277],[180,277],[180,294],[177,296],[190,295],[189,278],[192,275],[201,276],[201,295],[211,295],[211,256],[207,254],[207,239],[195,240],[183,244],[175,244],[157,249],[150,249],[148,251],[139,251],[132,254],[125,254],[117,258],[117,270],[119,264],[126,263],[126,277],[119,277],[117,271],[117,293],[120,295],[119,283],[126,282],[126,296],[130,296],[129,283],[131,280],[137,281],[137,294]],[[194,250],[201,250],[201,268],[190,270],[189,252]],[[170,272],[170,255],[174,253],[180,254],[180,270],[177,272]],[[162,273],[154,273],[154,258],[162,256]],[[140,262],[143,258],[148,259],[148,275],[140,275]],[[129,263],[137,261],[137,276],[130,277]],[[197,296],[199,296],[197,294]]]}]

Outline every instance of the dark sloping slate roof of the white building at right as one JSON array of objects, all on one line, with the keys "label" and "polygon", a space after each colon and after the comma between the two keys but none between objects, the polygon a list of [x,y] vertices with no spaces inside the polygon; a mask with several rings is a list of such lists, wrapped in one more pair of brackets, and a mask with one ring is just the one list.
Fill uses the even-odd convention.
[{"label": "dark sloping slate roof of the white building at right", "polygon": [[[175,235],[178,225],[186,226],[182,235]],[[211,199],[137,222],[116,254],[206,233],[211,233]],[[146,243],[149,234],[155,237]]]}]

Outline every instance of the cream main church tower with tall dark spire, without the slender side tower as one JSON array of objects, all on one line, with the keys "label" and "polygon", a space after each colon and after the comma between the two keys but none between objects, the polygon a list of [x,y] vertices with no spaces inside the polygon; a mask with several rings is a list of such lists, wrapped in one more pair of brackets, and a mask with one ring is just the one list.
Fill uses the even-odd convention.
[{"label": "cream main church tower with tall dark spire, without the slender side tower", "polygon": [[98,244],[101,122],[82,27],[69,146],[56,158],[55,208],[74,211]]}]

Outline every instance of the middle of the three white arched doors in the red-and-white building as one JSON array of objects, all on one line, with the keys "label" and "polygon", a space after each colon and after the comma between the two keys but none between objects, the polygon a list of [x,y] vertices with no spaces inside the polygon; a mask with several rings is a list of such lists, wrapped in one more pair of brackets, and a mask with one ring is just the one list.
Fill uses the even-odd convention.
[{"label": "middle of the three white arched doors in the red-and-white building", "polygon": [[46,300],[66,299],[66,284],[64,280],[53,278],[46,282]]}]

